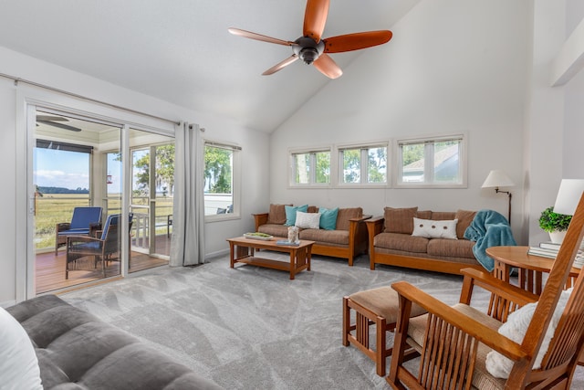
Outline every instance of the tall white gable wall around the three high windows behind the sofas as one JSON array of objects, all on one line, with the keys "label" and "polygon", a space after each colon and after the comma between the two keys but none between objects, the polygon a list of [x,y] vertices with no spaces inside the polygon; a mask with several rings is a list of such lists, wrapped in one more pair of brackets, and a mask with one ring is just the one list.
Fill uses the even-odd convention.
[{"label": "tall white gable wall around the three high windows behind the sofas", "polygon": [[[506,195],[482,190],[491,169],[517,184],[512,225],[523,229],[523,135],[530,12],[527,0],[426,0],[308,100],[271,139],[270,201],[507,213]],[[337,55],[332,55],[334,58]],[[290,189],[287,148],[433,133],[468,134],[466,189]]]}]

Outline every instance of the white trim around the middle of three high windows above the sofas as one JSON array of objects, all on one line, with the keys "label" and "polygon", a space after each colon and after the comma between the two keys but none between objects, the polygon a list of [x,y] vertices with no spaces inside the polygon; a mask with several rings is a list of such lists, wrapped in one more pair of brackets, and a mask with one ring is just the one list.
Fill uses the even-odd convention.
[{"label": "white trim around the middle of three high windows above the sofas", "polygon": [[[387,148],[387,163],[388,165],[390,165],[392,159],[391,159],[391,142],[388,140],[382,140],[382,141],[371,141],[371,142],[359,142],[359,143],[339,143],[338,145],[336,145],[335,147],[335,152],[334,156],[336,159],[336,163],[335,163],[335,167],[337,168],[337,174],[334,176],[335,177],[335,184],[338,188],[387,188],[391,186],[391,176],[392,176],[392,170],[391,167],[388,166],[388,168],[386,169],[386,182],[385,183],[344,183],[343,181],[343,162],[342,159],[340,158],[340,153],[343,150],[348,150],[348,149],[361,149],[361,178],[363,177],[367,177],[367,175],[369,174],[367,172],[367,166],[362,164],[363,161],[363,153],[364,153],[364,149],[365,148],[375,148],[375,147],[383,147],[385,146]],[[332,164],[332,162],[331,162]]]}]

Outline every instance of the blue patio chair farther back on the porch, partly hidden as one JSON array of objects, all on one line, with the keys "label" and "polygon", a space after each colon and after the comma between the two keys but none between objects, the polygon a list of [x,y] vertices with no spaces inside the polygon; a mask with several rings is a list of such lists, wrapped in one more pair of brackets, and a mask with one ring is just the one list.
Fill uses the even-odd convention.
[{"label": "blue patio chair farther back on the porch, partly hidden", "polygon": [[57,224],[55,229],[55,256],[58,248],[67,245],[67,237],[92,236],[93,232],[101,228],[101,211],[98,206],[75,207],[71,222],[62,222]]}]

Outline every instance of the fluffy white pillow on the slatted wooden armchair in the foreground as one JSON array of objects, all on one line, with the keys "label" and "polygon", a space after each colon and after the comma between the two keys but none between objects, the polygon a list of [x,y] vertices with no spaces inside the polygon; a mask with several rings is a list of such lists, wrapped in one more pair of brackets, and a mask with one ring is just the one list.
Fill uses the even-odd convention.
[{"label": "fluffy white pillow on the slatted wooden armchair in the foreground", "polygon": [[[562,294],[559,297],[558,306],[556,306],[554,315],[549,322],[544,341],[541,343],[541,347],[536,356],[536,361],[533,364],[534,369],[541,368],[541,361],[544,359],[544,356],[547,353],[547,348],[549,348],[549,343],[554,337],[554,332],[556,332],[556,327],[558,326],[559,319],[566,308],[566,303],[568,303],[569,294],[571,292],[572,289],[562,291]],[[533,318],[533,313],[536,311],[536,307],[537,302],[527,303],[527,305],[521,309],[509,314],[507,321],[499,328],[499,333],[516,343],[523,343],[523,338],[526,335],[527,327]],[[509,377],[509,374],[511,374],[513,361],[501,353],[491,351],[486,354],[485,365],[486,371],[495,376],[495,378],[506,379]]]}]

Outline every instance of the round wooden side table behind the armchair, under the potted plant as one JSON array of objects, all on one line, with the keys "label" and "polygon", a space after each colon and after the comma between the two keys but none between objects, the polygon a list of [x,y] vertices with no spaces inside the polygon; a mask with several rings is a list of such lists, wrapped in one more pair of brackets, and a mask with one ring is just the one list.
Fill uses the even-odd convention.
[{"label": "round wooden side table behind the armchair, under the potted plant", "polygon": [[[519,287],[541,294],[542,274],[549,273],[554,266],[553,258],[542,258],[540,256],[528,255],[529,247],[491,247],[486,249],[486,254],[495,260],[493,274],[496,278],[509,281],[509,274],[512,268],[516,268],[519,273]],[[566,288],[571,287],[572,279],[578,278],[579,269],[572,268]]]}]

